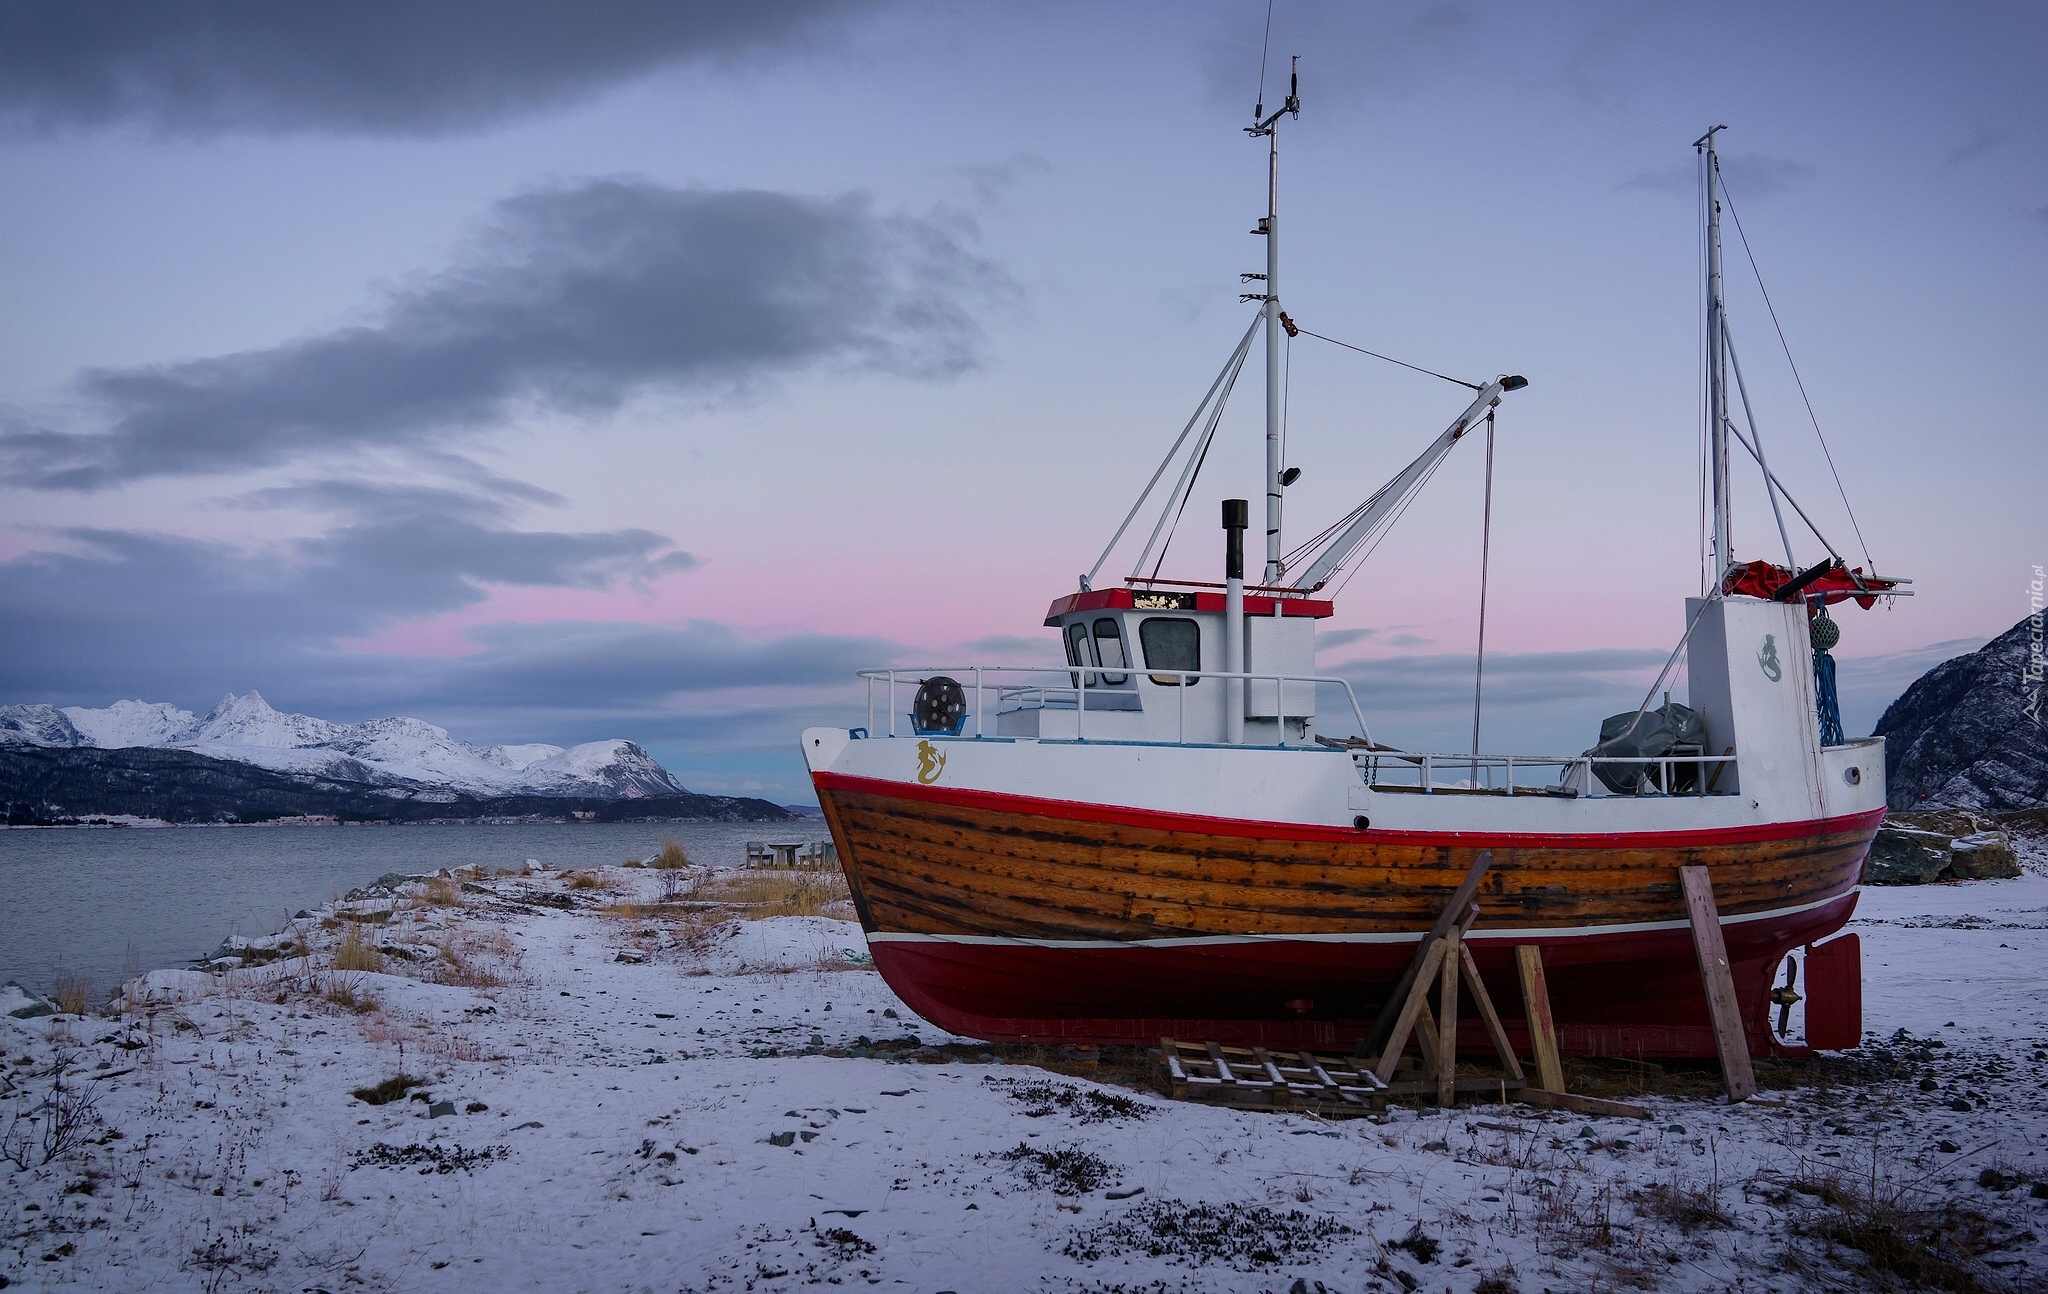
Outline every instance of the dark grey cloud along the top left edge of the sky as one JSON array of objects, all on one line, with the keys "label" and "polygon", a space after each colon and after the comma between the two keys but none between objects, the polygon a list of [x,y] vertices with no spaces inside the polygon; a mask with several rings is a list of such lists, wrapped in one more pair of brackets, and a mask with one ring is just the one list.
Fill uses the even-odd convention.
[{"label": "dark grey cloud along the top left edge of the sky", "polygon": [[860,0],[0,0],[0,123],[436,135],[682,61],[821,39]]}]

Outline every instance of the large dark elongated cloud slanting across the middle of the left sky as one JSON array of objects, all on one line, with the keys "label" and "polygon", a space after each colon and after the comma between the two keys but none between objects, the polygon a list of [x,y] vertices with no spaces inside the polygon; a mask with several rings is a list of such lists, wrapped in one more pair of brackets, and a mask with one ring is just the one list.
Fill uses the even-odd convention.
[{"label": "large dark elongated cloud slanting across the middle of the left sky", "polygon": [[600,180],[500,203],[383,319],[219,358],[94,369],[94,432],[12,428],[16,483],[98,489],[362,448],[446,452],[516,407],[602,414],[649,387],[731,397],[807,366],[946,377],[1006,291],[954,219],[860,197]]}]

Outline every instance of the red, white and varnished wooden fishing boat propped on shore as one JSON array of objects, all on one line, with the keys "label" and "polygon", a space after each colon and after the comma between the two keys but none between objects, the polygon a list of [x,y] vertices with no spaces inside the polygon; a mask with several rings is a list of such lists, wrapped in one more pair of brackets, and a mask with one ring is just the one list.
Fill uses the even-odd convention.
[{"label": "red, white and varnished wooden fishing boat propped on shore", "polygon": [[[1333,575],[1458,442],[1485,432],[1491,446],[1497,407],[1528,383],[1464,383],[1466,407],[1413,463],[1284,549],[1296,473],[1282,461],[1280,346],[1298,326],[1280,299],[1278,131],[1298,113],[1294,84],[1247,127],[1268,149],[1253,229],[1266,272],[1245,274],[1257,315],[1096,569],[1047,608],[1065,665],[864,670],[868,723],[803,733],[874,966],[920,1016],[973,1038],[1341,1048],[1384,1018],[1417,946],[1489,852],[1464,938],[1503,1013],[1522,1001],[1513,948],[1534,944],[1567,1054],[1712,1056],[1677,874],[1702,864],[1751,1052],[1853,1046],[1855,938],[1825,940],[1855,909],[1884,817],[1884,745],[1843,739],[1833,719],[1825,608],[1868,608],[1909,581],[1878,577],[1874,563],[1847,567],[1819,530],[1808,549],[1819,559],[1794,561],[1782,512],[1806,514],[1769,473],[1747,391],[1743,426],[1731,418],[1729,375],[1741,389],[1741,369],[1722,307],[1714,135],[1724,127],[1696,143],[1712,549],[1683,616],[1673,608],[1683,637],[1642,706],[1608,721],[1599,745],[1501,756],[1395,749],[1352,684],[1315,670]],[[1260,340],[1264,569],[1247,581],[1251,510],[1225,500],[1223,569],[1161,577],[1161,538]],[[1780,518],[1784,565],[1735,555],[1735,446]],[[1133,522],[1147,504],[1159,520],[1133,573],[1098,586],[1110,551],[1143,532]],[[1671,702],[1679,659],[1686,700]],[[1774,975],[1798,950],[1810,950],[1804,1038],[1784,1032],[1784,1009],[1778,1028],[1769,1020],[1798,997],[1794,979]],[[1526,1040],[1522,1020],[1505,1024]]]}]

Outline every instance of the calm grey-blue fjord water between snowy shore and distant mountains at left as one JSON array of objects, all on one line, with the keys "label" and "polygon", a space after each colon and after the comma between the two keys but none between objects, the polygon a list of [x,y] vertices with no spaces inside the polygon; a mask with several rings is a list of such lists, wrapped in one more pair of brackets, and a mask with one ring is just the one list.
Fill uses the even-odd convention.
[{"label": "calm grey-blue fjord water between snowy shore and distant mountains at left", "polygon": [[188,966],[231,934],[270,934],[385,872],[553,868],[649,858],[680,839],[694,862],[733,866],[745,842],[825,839],[793,823],[408,823],[362,827],[0,829],[0,983],[47,993],[59,970],[94,997],[143,970]]}]

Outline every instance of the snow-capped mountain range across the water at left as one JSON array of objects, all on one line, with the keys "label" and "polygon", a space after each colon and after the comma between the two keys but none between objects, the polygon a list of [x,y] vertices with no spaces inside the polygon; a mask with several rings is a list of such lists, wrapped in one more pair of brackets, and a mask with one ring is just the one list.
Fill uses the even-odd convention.
[{"label": "snow-capped mountain range across the water at left", "polygon": [[485,796],[645,796],[684,788],[633,741],[469,745],[418,719],[330,723],[283,715],[258,692],[227,694],[205,715],[143,700],[0,706],[0,745],[168,747],[291,774],[389,786],[446,786]]}]

